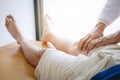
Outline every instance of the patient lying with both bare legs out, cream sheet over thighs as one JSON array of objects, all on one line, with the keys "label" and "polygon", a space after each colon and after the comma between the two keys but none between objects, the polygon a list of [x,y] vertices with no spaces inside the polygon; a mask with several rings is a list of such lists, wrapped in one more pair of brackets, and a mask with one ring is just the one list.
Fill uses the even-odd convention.
[{"label": "patient lying with both bare legs out, cream sheet over thighs", "polygon": [[50,31],[53,23],[49,16],[44,19],[42,41],[50,41],[58,50],[42,49],[27,41],[12,15],[6,16],[5,25],[8,32],[21,45],[28,63],[36,67],[35,76],[38,80],[90,80],[103,69],[120,63],[120,46],[118,45],[94,49],[87,56],[77,49],[76,42],[60,40],[60,44],[64,45],[59,46],[56,42],[59,37]]}]

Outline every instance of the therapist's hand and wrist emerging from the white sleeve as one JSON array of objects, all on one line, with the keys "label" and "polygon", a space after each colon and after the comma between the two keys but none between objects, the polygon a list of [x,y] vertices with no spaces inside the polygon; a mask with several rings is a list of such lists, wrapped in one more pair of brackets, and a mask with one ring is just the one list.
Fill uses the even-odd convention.
[{"label": "therapist's hand and wrist emerging from the white sleeve", "polygon": [[80,51],[83,51],[86,53],[87,49],[88,49],[88,45],[89,43],[97,38],[100,38],[103,36],[103,31],[105,29],[106,25],[103,23],[98,23],[95,28],[87,34],[87,36],[85,36],[84,38],[80,39],[79,43],[78,43],[78,49]]}]

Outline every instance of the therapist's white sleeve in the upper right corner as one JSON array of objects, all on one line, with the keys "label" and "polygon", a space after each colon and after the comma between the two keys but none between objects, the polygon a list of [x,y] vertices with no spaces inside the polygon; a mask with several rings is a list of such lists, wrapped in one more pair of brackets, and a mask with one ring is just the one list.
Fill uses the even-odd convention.
[{"label": "therapist's white sleeve in the upper right corner", "polygon": [[108,0],[98,22],[110,25],[120,16],[120,0]]}]

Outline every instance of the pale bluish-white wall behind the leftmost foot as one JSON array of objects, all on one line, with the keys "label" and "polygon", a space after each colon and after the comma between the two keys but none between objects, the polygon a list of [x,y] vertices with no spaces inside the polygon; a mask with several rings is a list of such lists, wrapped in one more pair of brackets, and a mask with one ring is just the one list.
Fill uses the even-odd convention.
[{"label": "pale bluish-white wall behind the leftmost foot", "polygon": [[22,34],[35,40],[35,20],[33,0],[0,0],[0,46],[15,40],[5,28],[5,16],[12,14]]}]

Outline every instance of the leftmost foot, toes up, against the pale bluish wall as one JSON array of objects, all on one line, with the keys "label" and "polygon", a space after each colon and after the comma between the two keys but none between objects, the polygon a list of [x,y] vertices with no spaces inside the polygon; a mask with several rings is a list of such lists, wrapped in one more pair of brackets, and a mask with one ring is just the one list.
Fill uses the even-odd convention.
[{"label": "leftmost foot, toes up, against the pale bluish wall", "polygon": [[22,40],[22,35],[20,31],[17,28],[16,21],[14,20],[14,17],[12,15],[8,15],[5,18],[5,25],[8,30],[8,32],[12,35],[12,37],[20,43]]}]

